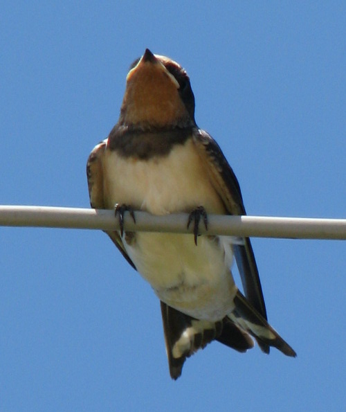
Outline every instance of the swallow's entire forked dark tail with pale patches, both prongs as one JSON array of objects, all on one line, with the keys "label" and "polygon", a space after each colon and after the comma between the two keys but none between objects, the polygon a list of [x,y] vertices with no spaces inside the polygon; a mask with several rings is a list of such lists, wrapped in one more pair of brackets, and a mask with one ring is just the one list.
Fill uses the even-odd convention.
[{"label": "swallow's entire forked dark tail with pale patches, both prongs", "polygon": [[165,346],[170,366],[170,375],[177,379],[181,375],[185,360],[217,340],[224,345],[246,352],[253,348],[254,337],[263,352],[274,346],[284,355],[295,357],[295,351],[268,324],[239,291],[235,298],[235,309],[221,321],[203,321],[161,302]]}]

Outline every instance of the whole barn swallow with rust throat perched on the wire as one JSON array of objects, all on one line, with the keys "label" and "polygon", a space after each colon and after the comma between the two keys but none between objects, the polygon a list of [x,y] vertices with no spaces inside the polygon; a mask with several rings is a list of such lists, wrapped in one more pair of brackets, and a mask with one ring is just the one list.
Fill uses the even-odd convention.
[{"label": "whole barn swallow with rust throat perched on the wire", "polygon": [[[91,206],[154,215],[190,213],[190,234],[108,231],[161,301],[170,375],[217,340],[239,352],[295,352],[267,322],[250,239],[201,235],[208,213],[246,215],[235,174],[215,140],[197,127],[186,71],[148,49],[127,74],[118,123],[87,163]],[[121,223],[121,222],[120,222]],[[195,241],[194,241],[195,240]],[[237,261],[244,295],[230,267]]]}]

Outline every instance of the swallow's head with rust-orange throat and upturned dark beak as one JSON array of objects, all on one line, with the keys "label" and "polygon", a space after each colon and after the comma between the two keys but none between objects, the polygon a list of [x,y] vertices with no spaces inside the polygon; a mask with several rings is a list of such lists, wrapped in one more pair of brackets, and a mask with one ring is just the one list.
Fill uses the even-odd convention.
[{"label": "swallow's head with rust-orange throat and upturned dark beak", "polygon": [[186,71],[147,48],[127,74],[118,123],[138,129],[194,126],[194,94]]}]

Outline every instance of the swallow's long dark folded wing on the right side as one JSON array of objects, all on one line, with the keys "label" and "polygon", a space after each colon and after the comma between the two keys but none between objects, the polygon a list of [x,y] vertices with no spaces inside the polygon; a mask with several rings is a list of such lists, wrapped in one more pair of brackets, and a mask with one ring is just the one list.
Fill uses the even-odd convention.
[{"label": "swallow's long dark folded wing on the right side", "polygon": [[[193,138],[210,179],[224,202],[226,211],[230,215],[246,215],[237,177],[219,145],[201,129],[194,130]],[[244,238],[242,244],[234,244],[233,248],[246,298],[267,319],[260,276],[250,239]]]}]

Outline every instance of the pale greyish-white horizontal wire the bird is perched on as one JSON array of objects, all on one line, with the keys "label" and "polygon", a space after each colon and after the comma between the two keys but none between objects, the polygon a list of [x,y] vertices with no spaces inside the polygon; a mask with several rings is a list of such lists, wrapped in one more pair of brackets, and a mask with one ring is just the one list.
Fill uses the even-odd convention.
[{"label": "pale greyish-white horizontal wire the bird is perched on", "polygon": [[[135,211],[135,216],[136,224],[125,213],[125,230],[192,232],[192,227],[186,227],[186,213],[156,216]],[[48,206],[0,206],[0,226],[119,229],[113,211]],[[199,233],[206,233],[203,223],[199,224]],[[208,215],[208,235],[346,240],[346,219]]]}]

